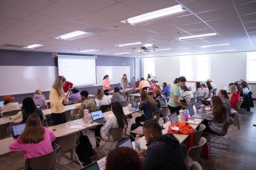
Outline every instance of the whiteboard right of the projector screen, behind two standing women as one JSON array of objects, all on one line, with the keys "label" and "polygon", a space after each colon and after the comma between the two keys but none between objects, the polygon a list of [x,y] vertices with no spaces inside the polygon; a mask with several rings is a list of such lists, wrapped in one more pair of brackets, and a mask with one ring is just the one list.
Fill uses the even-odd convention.
[{"label": "whiteboard right of the projector screen, behind two standing women", "polygon": [[120,83],[124,74],[127,75],[129,83],[131,82],[130,66],[96,66],[96,72],[97,85],[103,85],[103,78],[106,74],[109,76],[110,84]]}]

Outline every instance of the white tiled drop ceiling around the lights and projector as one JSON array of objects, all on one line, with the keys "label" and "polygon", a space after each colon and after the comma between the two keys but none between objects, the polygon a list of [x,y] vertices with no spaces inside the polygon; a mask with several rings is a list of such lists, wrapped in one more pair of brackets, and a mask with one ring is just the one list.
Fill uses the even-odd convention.
[{"label": "white tiled drop ceiling around the lights and projector", "polygon": [[[120,22],[178,4],[186,10],[135,26]],[[95,34],[70,41],[55,39],[76,30]],[[215,32],[217,35],[201,39],[176,39]],[[135,53],[142,44],[116,46],[132,42],[172,50]],[[230,45],[200,47],[227,43]],[[32,44],[42,46],[22,48]],[[255,51],[256,0],[0,0],[0,49],[76,54],[95,49],[99,53],[86,54],[108,56],[130,53],[118,55],[122,57]]]}]

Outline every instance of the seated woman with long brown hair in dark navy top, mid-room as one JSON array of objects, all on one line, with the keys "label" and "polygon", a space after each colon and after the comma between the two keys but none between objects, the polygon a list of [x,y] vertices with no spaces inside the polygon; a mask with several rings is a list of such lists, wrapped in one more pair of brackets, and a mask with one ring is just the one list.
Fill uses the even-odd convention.
[{"label": "seated woman with long brown hair in dark navy top, mid-room", "polygon": [[142,126],[141,122],[144,122],[146,120],[151,120],[152,119],[152,113],[154,111],[158,111],[157,109],[157,103],[152,99],[151,97],[148,96],[148,93],[146,91],[142,91],[140,93],[141,96],[141,103],[140,103],[140,110],[144,111],[143,115],[137,116],[135,118],[136,124]]}]

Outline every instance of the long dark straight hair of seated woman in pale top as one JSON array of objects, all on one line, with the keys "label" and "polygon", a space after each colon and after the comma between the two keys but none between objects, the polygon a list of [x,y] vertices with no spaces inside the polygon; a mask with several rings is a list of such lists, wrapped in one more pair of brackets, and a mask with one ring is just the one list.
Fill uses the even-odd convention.
[{"label": "long dark straight hair of seated woman in pale top", "polygon": [[119,128],[123,129],[123,128],[127,127],[128,122],[125,117],[125,113],[122,109],[121,103],[119,101],[111,102],[111,108],[112,108],[114,115],[116,116],[116,120],[117,120],[117,124],[118,124]]}]

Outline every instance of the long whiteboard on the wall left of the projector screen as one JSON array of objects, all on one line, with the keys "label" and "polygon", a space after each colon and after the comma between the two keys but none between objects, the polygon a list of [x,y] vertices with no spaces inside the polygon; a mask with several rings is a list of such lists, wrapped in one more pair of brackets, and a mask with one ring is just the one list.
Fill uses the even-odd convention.
[{"label": "long whiteboard on the wall left of the projector screen", "polygon": [[55,66],[0,66],[0,96],[50,91],[58,77]]}]

